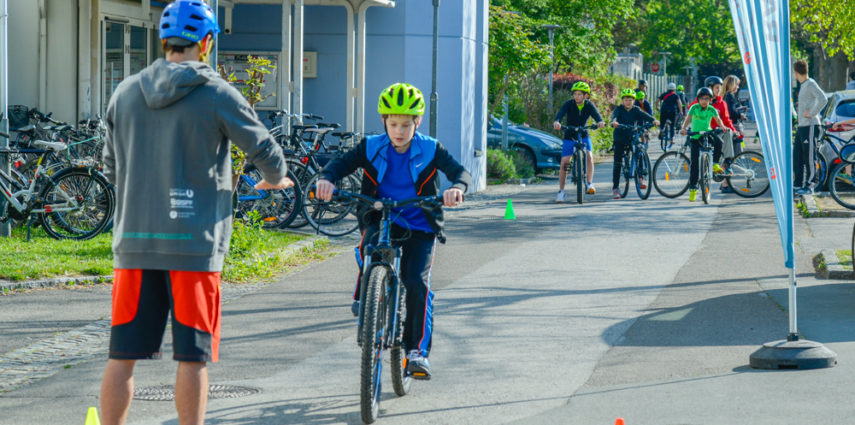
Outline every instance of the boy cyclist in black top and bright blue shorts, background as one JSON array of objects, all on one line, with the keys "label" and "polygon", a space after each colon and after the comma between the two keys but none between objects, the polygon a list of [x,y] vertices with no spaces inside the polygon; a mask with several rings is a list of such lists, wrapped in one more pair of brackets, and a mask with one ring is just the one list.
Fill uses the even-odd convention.
[{"label": "boy cyclist in black top and bright blue shorts, background", "polygon": [[[591,102],[588,97],[591,95],[591,86],[584,81],[577,81],[570,88],[573,92],[573,99],[564,102],[561,109],[555,115],[555,122],[552,123],[552,128],[561,130],[561,118],[565,118],[567,126],[583,127],[588,122],[588,119],[593,119],[599,128],[606,125],[603,122],[603,117],[597,111],[597,107]],[[585,176],[587,179],[586,189],[588,194],[593,195],[597,192],[594,188],[594,157],[592,155],[593,145],[591,137],[585,130],[576,131],[567,129],[564,130],[564,145],[561,148],[561,169],[558,171],[558,195],[555,197],[555,202],[564,202],[566,195],[564,194],[564,184],[567,179],[567,164],[573,157],[575,151],[574,140],[578,140],[585,144],[585,161],[588,165],[588,173]]]}]

